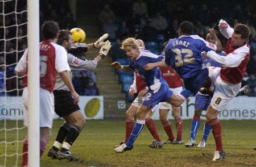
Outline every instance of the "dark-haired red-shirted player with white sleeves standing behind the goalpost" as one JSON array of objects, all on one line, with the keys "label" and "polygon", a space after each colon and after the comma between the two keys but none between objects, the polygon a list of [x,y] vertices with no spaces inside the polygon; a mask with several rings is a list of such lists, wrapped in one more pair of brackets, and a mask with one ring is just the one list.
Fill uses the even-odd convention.
[{"label": "dark-haired red-shirted player with white sleeves standing behind the goalpost", "polygon": [[[42,26],[43,41],[40,43],[40,156],[42,156],[46,145],[51,137],[51,128],[53,123],[53,88],[56,82],[56,74],[60,77],[71,91],[73,103],[79,102],[79,95],[76,93],[71,78],[67,52],[63,47],[56,44],[59,33],[59,26],[56,22],[47,21]],[[15,71],[18,76],[26,75],[23,79],[24,90],[22,94],[24,125],[27,126],[28,110],[28,89],[27,89],[27,50],[19,60]],[[23,144],[22,166],[27,166],[28,140]]]}]

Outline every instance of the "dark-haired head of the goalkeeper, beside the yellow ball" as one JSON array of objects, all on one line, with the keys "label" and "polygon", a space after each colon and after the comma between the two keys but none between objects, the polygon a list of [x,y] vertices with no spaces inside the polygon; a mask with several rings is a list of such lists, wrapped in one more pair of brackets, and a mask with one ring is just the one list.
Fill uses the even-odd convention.
[{"label": "dark-haired head of the goalkeeper, beside the yellow ball", "polygon": [[57,40],[57,44],[63,46],[65,49],[71,49],[71,44],[73,43],[73,36],[68,30],[60,30],[59,38]]}]

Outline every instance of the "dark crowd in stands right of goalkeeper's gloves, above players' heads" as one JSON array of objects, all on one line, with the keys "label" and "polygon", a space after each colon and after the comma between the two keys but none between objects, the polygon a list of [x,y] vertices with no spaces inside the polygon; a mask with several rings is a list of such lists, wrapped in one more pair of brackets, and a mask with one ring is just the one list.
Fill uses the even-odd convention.
[{"label": "dark crowd in stands right of goalkeeper's gloves, above players' heads", "polygon": [[[237,5],[231,5],[231,3],[230,1],[203,3],[201,1],[135,0],[117,4],[115,1],[103,1],[98,17],[102,32],[109,33],[112,40],[113,48],[110,56],[113,61],[126,59],[125,53],[119,49],[121,41],[126,37],[142,39],[146,49],[160,55],[164,41],[178,37],[178,26],[184,20],[191,21],[195,26],[194,33],[204,39],[209,28],[218,30],[220,19],[225,19],[232,27],[240,22],[247,24],[251,31],[251,52],[243,85],[249,84],[251,88],[249,95],[255,96],[256,11],[253,1],[241,2]],[[217,33],[225,46],[225,37],[220,32]],[[118,74],[120,76],[119,72]],[[125,84],[123,84],[123,91],[126,91]]]}]

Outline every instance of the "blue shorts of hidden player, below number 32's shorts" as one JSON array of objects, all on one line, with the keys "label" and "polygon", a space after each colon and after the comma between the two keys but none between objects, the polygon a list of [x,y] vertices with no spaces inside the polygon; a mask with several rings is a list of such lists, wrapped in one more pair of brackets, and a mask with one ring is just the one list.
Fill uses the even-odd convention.
[{"label": "blue shorts of hidden player, below number 32's shorts", "polygon": [[195,109],[207,110],[211,99],[212,96],[210,95],[201,95],[197,93],[195,99]]}]

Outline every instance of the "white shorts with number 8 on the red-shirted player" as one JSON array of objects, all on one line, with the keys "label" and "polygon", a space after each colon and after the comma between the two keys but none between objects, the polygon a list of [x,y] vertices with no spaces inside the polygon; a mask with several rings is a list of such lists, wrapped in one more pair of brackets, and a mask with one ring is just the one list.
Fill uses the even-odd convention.
[{"label": "white shorts with number 8 on the red-shirted player", "polygon": [[209,77],[212,80],[213,85],[215,86],[214,94],[210,105],[218,111],[221,111],[226,104],[236,97],[241,89],[241,83],[232,84],[225,82],[220,77],[221,68],[216,68],[210,66]]}]

